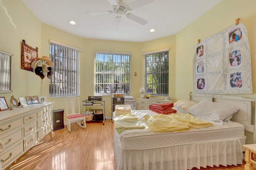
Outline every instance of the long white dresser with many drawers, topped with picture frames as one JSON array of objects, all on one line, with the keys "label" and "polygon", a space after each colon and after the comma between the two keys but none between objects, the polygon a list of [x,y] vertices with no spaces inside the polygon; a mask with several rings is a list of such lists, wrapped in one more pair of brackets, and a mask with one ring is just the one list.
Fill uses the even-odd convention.
[{"label": "long white dresser with many drawers, topped with picture frames", "polygon": [[52,103],[0,111],[0,140],[5,145],[4,152],[0,153],[2,169],[16,161],[50,132],[52,132]]}]

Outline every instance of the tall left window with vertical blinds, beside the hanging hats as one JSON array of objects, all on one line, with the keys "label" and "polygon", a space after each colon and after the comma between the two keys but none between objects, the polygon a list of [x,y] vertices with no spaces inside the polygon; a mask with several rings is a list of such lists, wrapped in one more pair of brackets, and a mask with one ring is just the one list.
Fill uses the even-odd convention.
[{"label": "tall left window with vertical blinds, beside the hanging hats", "polygon": [[50,40],[50,58],[54,63],[50,97],[79,95],[79,52],[76,47]]}]

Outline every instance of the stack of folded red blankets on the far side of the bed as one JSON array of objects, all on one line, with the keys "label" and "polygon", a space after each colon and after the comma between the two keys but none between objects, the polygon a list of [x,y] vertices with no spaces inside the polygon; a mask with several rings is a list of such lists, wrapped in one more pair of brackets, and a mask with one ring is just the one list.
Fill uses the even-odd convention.
[{"label": "stack of folded red blankets on the far side of the bed", "polygon": [[149,109],[160,114],[169,115],[177,113],[175,109],[172,109],[173,103],[156,103],[149,106]]}]

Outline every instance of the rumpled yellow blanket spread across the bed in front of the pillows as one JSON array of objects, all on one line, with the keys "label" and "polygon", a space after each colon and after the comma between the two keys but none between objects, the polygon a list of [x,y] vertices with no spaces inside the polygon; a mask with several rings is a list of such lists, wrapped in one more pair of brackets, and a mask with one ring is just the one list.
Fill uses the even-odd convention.
[{"label": "rumpled yellow blanket spread across the bed in front of the pillows", "polygon": [[204,128],[213,125],[190,114],[145,115],[144,118],[148,122],[148,128],[154,132],[182,132],[190,128]]}]

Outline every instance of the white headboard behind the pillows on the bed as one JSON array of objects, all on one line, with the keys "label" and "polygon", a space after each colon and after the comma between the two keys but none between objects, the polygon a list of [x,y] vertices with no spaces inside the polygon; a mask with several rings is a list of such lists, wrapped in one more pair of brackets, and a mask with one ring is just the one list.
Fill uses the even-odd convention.
[{"label": "white headboard behind the pillows on the bed", "polygon": [[[233,105],[240,110],[234,113],[231,121],[235,121],[244,125],[245,130],[253,133],[253,143],[256,143],[256,129],[255,129],[255,107],[256,100],[238,96],[227,95],[208,95],[208,94],[191,94],[190,100],[199,103],[202,100],[209,100],[217,103],[224,103],[226,105]],[[255,134],[254,134],[255,133]]]}]

